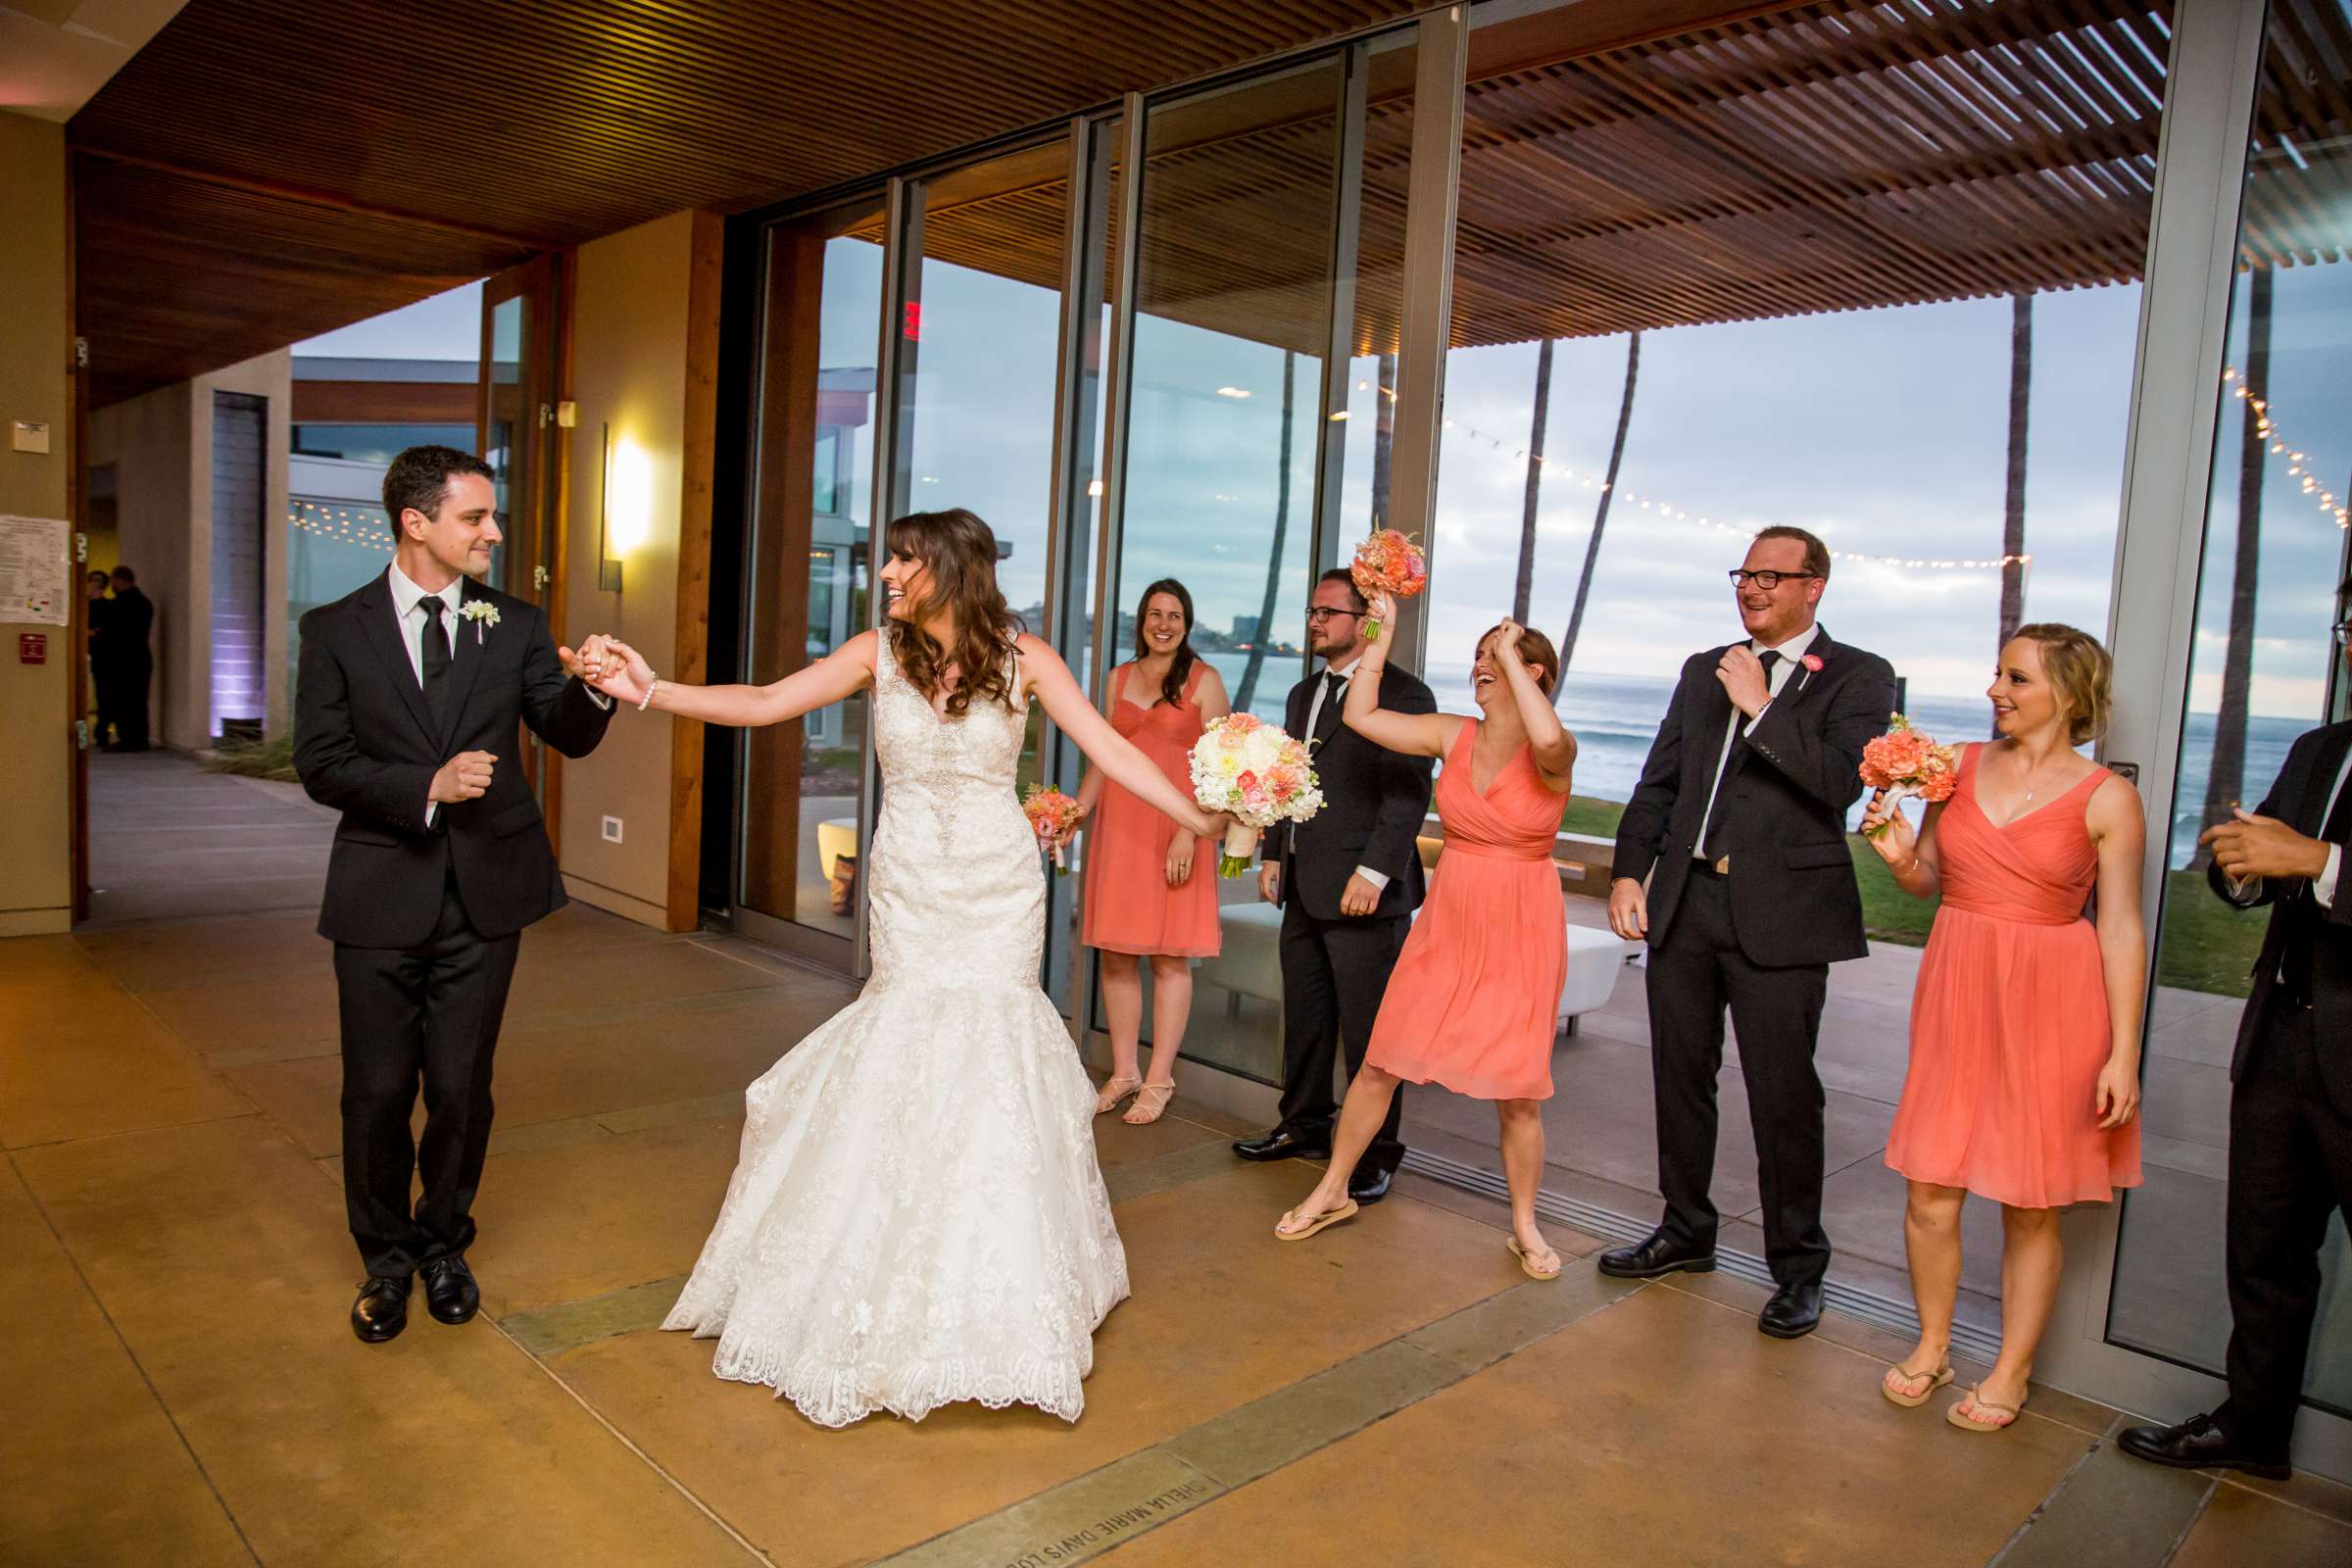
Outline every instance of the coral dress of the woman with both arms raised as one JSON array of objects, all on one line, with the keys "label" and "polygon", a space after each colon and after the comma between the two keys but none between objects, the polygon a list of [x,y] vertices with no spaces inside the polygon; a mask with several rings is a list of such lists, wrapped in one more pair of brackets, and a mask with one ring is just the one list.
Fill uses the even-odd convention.
[{"label": "coral dress of the woman with both arms raised", "polygon": [[1552,837],[1564,795],[1519,748],[1482,792],[1477,719],[1437,773],[1446,849],[1371,1025],[1364,1063],[1477,1100],[1552,1098],[1552,1037],[1569,978]]}]

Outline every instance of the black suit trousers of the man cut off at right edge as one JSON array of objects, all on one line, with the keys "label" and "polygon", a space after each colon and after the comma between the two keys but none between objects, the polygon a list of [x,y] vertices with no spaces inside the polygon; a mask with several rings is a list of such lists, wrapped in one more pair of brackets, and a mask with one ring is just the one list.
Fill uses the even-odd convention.
[{"label": "black suit trousers of the man cut off at right edge", "polygon": [[[2328,1100],[2317,1013],[2270,992],[2230,1095],[2230,1403],[2220,1422],[2286,1458],[2319,1309],[2328,1215],[2352,1218],[2352,1117]],[[2343,1041],[2333,1041],[2340,1046]]]}]

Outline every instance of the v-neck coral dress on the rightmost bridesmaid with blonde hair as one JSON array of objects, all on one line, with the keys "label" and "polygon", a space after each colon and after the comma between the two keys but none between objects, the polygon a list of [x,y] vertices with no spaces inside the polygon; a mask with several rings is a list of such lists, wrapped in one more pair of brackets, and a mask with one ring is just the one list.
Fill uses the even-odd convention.
[{"label": "v-neck coral dress on the rightmost bridesmaid with blonde hair", "polygon": [[1936,818],[1943,907],[1919,959],[1886,1164],[2016,1208],[2105,1204],[2140,1185],[2140,1119],[2100,1131],[2096,1112],[2110,1023],[2084,816],[2107,769],[1994,825],[1976,802],[1983,750],[1962,757]]}]

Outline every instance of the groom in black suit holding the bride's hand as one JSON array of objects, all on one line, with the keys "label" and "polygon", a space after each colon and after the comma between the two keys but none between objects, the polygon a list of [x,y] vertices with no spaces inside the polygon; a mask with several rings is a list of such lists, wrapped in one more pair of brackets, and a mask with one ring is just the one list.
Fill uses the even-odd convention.
[{"label": "groom in black suit holding the bride's hand", "polygon": [[[390,569],[301,618],[294,766],[343,820],[318,933],[334,943],[343,1023],[343,1206],[367,1262],[350,1328],[407,1326],[409,1281],[463,1324],[489,1147],[489,1060],[522,926],[564,903],[517,722],[567,757],[604,738],[612,701],[583,686],[536,604],[477,578],[499,543],[492,470],[409,447],[383,475]],[[567,677],[569,672],[569,677]],[[416,1086],[423,1143],[409,1138]],[[423,1199],[409,1211],[409,1175]]]}]

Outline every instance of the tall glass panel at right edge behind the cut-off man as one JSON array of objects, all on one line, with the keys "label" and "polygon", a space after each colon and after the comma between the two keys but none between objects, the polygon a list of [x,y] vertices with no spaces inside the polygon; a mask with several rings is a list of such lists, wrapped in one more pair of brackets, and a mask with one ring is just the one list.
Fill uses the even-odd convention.
[{"label": "tall glass panel at right edge behind the cut-off man", "polygon": [[[2197,835],[2270,792],[2296,736],[2343,719],[2331,625],[2352,567],[2352,108],[2340,0],[2270,9],[2197,581],[2180,783],[2145,1058],[2147,1185],[2124,1204],[2107,1335],[2220,1373],[2230,1056],[2270,910],[2206,886]],[[2319,89],[2314,89],[2319,85]],[[2328,1220],[2305,1392],[2352,1413],[2352,1258]]]}]

